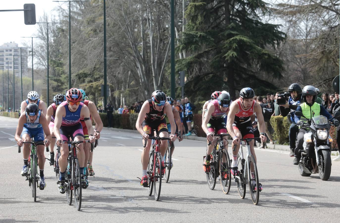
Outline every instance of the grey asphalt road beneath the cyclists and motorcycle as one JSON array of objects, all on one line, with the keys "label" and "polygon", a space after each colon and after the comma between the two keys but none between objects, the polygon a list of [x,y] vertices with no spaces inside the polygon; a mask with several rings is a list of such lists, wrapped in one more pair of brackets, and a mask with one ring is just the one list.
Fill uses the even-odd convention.
[{"label": "grey asphalt road beneath the cyclists and motorcycle", "polygon": [[215,190],[208,188],[202,170],[205,142],[177,141],[170,181],[162,184],[156,202],[137,179],[140,135],[112,130],[103,130],[94,151],[95,177],[83,190],[81,211],[58,192],[47,162],[47,187],[37,190],[34,202],[20,175],[22,153],[14,141],[17,119],[0,117],[0,122],[0,222],[339,222],[340,162],[334,161],[329,180],[321,181],[318,174],[300,176],[287,152],[256,150],[263,191],[255,206],[248,187],[242,200],[233,181],[229,194],[222,192],[219,182]]}]

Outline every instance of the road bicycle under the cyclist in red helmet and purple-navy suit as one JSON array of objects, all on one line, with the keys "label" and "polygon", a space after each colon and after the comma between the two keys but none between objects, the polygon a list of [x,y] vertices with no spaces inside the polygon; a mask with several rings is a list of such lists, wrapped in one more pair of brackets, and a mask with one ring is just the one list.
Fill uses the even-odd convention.
[{"label": "road bicycle under the cyclist in red helmet and purple-navy suit", "polygon": [[[72,204],[72,192],[74,193],[74,203],[77,210],[80,210],[82,204],[82,178],[83,173],[80,172],[79,160],[77,158],[77,145],[80,143],[90,142],[90,140],[83,141],[64,141],[68,144],[69,156],[67,158],[68,170],[70,174],[66,174],[66,198],[69,205]],[[79,148],[78,148],[79,149]]]}]

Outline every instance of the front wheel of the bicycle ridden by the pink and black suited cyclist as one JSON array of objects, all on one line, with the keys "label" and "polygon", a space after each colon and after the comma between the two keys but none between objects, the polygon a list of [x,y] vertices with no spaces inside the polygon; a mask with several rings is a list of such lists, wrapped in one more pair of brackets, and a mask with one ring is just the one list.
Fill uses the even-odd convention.
[{"label": "front wheel of the bicycle ridden by the pink and black suited cyclist", "polygon": [[[223,160],[226,160],[224,163]],[[223,193],[228,194],[231,186],[231,174],[229,172],[230,159],[228,152],[223,149],[220,158],[220,178]]]}]

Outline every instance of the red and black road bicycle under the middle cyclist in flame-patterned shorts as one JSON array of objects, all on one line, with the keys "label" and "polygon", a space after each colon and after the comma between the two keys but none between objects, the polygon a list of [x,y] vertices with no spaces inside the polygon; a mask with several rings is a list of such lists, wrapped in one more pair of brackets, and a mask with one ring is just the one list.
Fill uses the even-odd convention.
[{"label": "red and black road bicycle under the middle cyclist in flame-patterned shorts", "polygon": [[[155,144],[152,146],[152,150],[149,157],[149,163],[148,163],[148,191],[149,196],[152,195],[152,189],[154,191],[155,200],[159,200],[160,196],[160,188],[162,186],[162,177],[164,175],[163,173],[163,165],[162,165],[162,158],[160,156],[160,150],[159,150],[159,144],[160,140],[171,140],[168,137],[149,137],[149,139],[154,139]],[[145,140],[144,148],[146,147],[148,140]]]}]

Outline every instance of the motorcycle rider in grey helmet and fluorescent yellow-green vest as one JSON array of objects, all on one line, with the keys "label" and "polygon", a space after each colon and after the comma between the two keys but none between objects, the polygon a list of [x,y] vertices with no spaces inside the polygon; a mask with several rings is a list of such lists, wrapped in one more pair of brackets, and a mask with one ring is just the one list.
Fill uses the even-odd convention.
[{"label": "motorcycle rider in grey helmet and fluorescent yellow-green vest", "polygon": [[[311,120],[311,118],[314,116],[323,115],[326,116],[327,119],[329,119],[331,122],[333,122],[335,126],[339,126],[339,121],[335,119],[331,114],[329,114],[322,105],[315,102],[317,98],[317,89],[315,87],[311,85],[305,86],[302,90],[302,97],[305,102],[297,106],[296,111],[301,111],[305,117],[295,116],[295,123],[304,124],[307,122],[307,119]],[[295,158],[293,160],[294,165],[298,165],[301,159],[301,153],[299,153],[299,150],[303,149],[303,137],[307,130],[307,127],[299,128],[299,133],[296,137],[296,147],[294,152]]]}]

